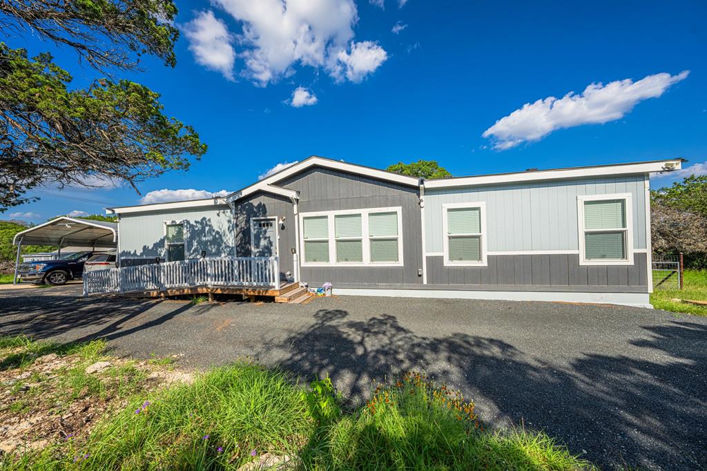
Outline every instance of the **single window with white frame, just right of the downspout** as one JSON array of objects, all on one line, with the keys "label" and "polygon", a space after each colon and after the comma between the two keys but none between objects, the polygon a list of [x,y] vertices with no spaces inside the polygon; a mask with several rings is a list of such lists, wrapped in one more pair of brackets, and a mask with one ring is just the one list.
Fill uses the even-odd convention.
[{"label": "single window with white frame, just right of the downspout", "polygon": [[486,203],[442,205],[444,264],[486,267]]}]

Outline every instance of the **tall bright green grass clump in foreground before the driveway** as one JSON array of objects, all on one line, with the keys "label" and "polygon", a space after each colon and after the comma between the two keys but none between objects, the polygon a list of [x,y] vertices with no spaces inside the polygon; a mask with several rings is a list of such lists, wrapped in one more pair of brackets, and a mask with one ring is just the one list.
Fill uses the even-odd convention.
[{"label": "tall bright green grass clump in foreground before the driveway", "polygon": [[[290,455],[305,470],[584,470],[544,434],[492,433],[472,402],[420,375],[380,386],[343,412],[326,380],[307,390],[250,363],[132,401],[77,438],[19,460],[25,470],[237,470],[253,455]],[[2,465],[3,463],[0,463]]]}]

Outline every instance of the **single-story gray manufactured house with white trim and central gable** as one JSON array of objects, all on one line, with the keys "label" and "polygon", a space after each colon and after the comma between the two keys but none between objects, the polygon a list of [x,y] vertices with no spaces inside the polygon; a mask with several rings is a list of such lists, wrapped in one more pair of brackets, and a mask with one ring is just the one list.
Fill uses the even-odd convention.
[{"label": "single-story gray manufactured house with white trim and central gable", "polygon": [[278,288],[649,306],[649,175],[681,164],[420,180],[313,156],[226,197],[109,212],[121,269],[251,260]]}]

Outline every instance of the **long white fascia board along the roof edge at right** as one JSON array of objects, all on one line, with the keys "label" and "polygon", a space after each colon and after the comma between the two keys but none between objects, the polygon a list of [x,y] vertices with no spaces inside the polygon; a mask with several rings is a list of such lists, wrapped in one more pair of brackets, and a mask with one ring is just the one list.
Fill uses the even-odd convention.
[{"label": "long white fascia board along the roof edge at right", "polygon": [[682,159],[657,162],[625,163],[619,165],[597,165],[596,167],[538,170],[532,172],[506,173],[501,175],[479,175],[478,177],[443,178],[425,180],[428,190],[434,188],[494,185],[499,183],[527,183],[540,180],[564,180],[568,178],[607,177],[615,175],[665,172],[682,168]]}]

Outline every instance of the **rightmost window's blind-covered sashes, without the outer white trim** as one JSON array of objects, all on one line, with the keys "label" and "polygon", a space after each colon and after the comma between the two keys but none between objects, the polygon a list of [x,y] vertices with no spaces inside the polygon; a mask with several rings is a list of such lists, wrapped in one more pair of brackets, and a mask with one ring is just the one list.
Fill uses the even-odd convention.
[{"label": "rightmost window's blind-covered sashes, without the outer white trim", "polygon": [[626,200],[584,202],[585,260],[627,260]]}]

